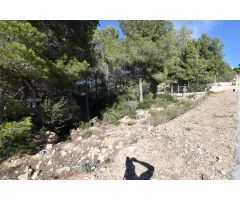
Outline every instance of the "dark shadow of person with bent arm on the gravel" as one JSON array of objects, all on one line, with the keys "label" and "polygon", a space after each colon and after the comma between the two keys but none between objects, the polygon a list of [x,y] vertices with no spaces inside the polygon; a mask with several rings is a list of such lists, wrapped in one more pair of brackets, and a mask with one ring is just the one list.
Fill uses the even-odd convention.
[{"label": "dark shadow of person with bent arm on the gravel", "polygon": [[[138,176],[135,172],[135,165],[133,162],[139,163],[140,165],[147,168],[147,171],[143,172],[140,176]],[[154,167],[146,162],[142,162],[137,160],[136,158],[129,158],[126,157],[126,170],[123,177],[123,180],[150,180],[153,172]]]}]

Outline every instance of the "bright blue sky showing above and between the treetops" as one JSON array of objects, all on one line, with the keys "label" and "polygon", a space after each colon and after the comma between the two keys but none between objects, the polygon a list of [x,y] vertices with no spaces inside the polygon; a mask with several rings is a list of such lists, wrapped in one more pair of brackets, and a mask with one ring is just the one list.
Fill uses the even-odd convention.
[{"label": "bright blue sky showing above and between the treetops", "polygon": [[[224,44],[225,60],[231,67],[240,64],[240,20],[174,20],[175,29],[183,25],[193,31],[193,37],[198,38],[203,33],[219,38]],[[100,20],[100,28],[113,25],[119,29],[117,20]],[[123,33],[120,31],[120,37]]]}]

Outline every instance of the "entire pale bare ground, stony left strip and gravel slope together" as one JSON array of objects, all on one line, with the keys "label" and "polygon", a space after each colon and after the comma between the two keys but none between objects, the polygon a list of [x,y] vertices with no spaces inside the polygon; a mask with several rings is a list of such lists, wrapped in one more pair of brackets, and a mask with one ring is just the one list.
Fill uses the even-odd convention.
[{"label": "entire pale bare ground, stony left strip and gravel slope together", "polygon": [[236,111],[232,90],[157,127],[149,125],[148,111],[138,110],[136,120],[91,127],[89,138],[73,130],[68,141],[6,160],[0,179],[123,179],[126,171],[126,179],[231,179]]}]

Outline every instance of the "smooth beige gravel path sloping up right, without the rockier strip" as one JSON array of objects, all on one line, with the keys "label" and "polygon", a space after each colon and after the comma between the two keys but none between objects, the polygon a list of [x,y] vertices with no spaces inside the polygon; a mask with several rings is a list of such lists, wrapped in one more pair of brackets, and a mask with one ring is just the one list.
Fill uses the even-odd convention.
[{"label": "smooth beige gravel path sloping up right, without the rockier strip", "polygon": [[[232,90],[212,94],[194,109],[121,149],[113,162],[94,176],[123,179],[127,171],[130,179],[232,179],[236,111],[237,96]],[[126,157],[137,161],[125,162]]]}]

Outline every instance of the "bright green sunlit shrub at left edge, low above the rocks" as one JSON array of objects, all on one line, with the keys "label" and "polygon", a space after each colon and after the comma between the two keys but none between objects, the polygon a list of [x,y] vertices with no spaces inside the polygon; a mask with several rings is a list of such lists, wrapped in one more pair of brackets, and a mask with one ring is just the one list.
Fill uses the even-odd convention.
[{"label": "bright green sunlit shrub at left edge, low above the rocks", "polygon": [[36,146],[30,141],[32,131],[31,117],[0,125],[0,161],[21,150],[33,150]]}]

